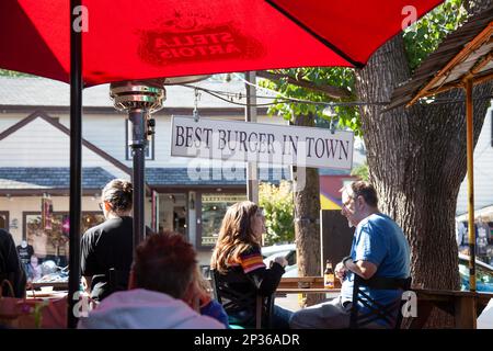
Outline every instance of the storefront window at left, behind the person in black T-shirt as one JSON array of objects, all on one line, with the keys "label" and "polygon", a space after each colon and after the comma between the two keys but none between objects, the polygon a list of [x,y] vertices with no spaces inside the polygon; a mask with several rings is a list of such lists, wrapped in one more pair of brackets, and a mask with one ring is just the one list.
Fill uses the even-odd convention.
[{"label": "storefront window at left, behind the person in black T-shirt", "polygon": [[[81,233],[104,222],[101,213],[83,213]],[[69,214],[54,213],[50,229],[43,228],[41,213],[25,214],[25,237],[33,246],[39,261],[54,260],[58,265],[68,264],[69,253]]]}]

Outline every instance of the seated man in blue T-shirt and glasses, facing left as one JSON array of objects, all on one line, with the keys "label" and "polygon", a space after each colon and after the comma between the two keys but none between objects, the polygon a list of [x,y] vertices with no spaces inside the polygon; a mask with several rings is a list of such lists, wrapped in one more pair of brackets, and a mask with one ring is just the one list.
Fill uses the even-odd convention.
[{"label": "seated man in blue T-shirt and glasses, facing left", "polygon": [[[354,274],[402,279],[410,275],[410,249],[402,229],[378,210],[375,188],[356,181],[342,190],[342,214],[349,227],[356,227],[351,256],[335,267],[341,280],[341,295],[329,302],[301,309],[291,318],[291,328],[347,328],[353,299]],[[370,297],[383,305],[401,298],[401,290],[368,290]],[[370,328],[389,327],[382,321]]]}]

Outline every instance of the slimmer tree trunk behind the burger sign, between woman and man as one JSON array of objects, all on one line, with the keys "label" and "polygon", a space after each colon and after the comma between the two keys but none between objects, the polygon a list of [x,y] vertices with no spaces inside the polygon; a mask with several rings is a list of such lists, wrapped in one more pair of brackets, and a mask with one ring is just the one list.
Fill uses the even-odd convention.
[{"label": "slimmer tree trunk behind the burger sign, between woman and man", "polygon": [[[314,126],[312,115],[296,116],[295,125]],[[321,275],[320,263],[320,185],[317,168],[295,168],[295,239],[299,276]],[[309,294],[301,303],[310,306],[323,299],[323,295]]]}]

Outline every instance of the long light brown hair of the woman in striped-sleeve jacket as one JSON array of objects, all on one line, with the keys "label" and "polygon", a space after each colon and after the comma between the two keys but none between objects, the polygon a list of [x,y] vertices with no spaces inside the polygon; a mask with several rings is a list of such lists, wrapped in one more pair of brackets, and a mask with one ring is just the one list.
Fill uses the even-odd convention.
[{"label": "long light brown hair of the woman in striped-sleeve jacket", "polygon": [[239,202],[228,208],[210,259],[213,270],[226,273],[229,263],[238,262],[242,252],[260,247],[251,226],[257,210],[259,206],[251,201]]}]

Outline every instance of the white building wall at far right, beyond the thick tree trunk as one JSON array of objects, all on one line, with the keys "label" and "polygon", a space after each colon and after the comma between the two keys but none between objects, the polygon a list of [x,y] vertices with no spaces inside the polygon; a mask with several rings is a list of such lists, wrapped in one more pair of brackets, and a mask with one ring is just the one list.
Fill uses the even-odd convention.
[{"label": "white building wall at far right, beyond the thick tree trunk", "polygon": [[[474,148],[474,210],[493,205],[493,147],[492,143],[493,109],[490,107],[484,120],[478,144]],[[458,215],[468,210],[467,176],[460,185],[457,199]]]}]

